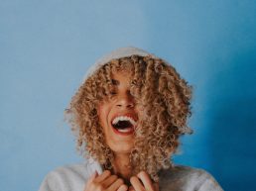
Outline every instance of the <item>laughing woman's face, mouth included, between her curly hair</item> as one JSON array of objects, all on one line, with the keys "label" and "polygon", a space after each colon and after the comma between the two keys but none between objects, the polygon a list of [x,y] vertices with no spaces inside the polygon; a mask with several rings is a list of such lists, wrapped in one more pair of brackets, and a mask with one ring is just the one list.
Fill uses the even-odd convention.
[{"label": "laughing woman's face, mouth included, between her curly hair", "polygon": [[97,110],[106,143],[116,153],[131,151],[138,121],[134,97],[130,94],[130,76],[129,72],[121,71],[112,74],[113,98],[101,102]]}]

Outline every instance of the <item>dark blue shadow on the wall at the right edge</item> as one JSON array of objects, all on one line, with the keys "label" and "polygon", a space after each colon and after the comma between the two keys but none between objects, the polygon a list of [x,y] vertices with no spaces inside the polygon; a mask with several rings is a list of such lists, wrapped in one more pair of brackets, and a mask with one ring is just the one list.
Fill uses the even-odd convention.
[{"label": "dark blue shadow on the wall at the right edge", "polygon": [[214,92],[207,106],[208,126],[214,130],[209,135],[213,174],[224,190],[249,191],[256,177],[255,50],[222,64],[209,82]]}]

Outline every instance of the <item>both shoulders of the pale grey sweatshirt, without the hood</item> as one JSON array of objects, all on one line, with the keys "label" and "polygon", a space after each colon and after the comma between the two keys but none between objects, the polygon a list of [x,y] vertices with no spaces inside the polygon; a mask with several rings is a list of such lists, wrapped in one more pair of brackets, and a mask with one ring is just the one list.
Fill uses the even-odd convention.
[{"label": "both shoulders of the pale grey sweatshirt, without the hood", "polygon": [[[100,165],[93,161],[66,165],[51,171],[39,191],[84,191],[87,179]],[[216,180],[205,170],[176,165],[160,172],[160,191],[222,191]]]}]

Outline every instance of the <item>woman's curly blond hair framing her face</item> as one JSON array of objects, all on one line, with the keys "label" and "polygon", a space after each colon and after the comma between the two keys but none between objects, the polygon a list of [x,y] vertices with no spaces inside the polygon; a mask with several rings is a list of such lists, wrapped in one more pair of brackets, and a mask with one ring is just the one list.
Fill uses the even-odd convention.
[{"label": "woman's curly blond hair framing her face", "polygon": [[145,170],[158,181],[158,172],[173,164],[171,156],[177,151],[180,136],[192,133],[187,126],[192,114],[192,86],[165,60],[132,55],[103,64],[76,91],[65,110],[65,119],[76,135],[80,153],[111,169],[114,155],[105,143],[97,106],[102,100],[111,99],[111,73],[120,70],[132,72],[130,92],[136,106],[143,108],[138,113],[130,153],[133,172]]}]

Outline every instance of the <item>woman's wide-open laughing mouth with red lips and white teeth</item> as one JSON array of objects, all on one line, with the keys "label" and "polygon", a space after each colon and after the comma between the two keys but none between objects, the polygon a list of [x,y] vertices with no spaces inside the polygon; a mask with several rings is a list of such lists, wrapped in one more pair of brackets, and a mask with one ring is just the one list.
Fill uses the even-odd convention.
[{"label": "woman's wide-open laughing mouth with red lips and white teeth", "polygon": [[127,116],[120,116],[115,118],[111,123],[113,130],[119,135],[131,135],[134,132],[136,122]]}]

